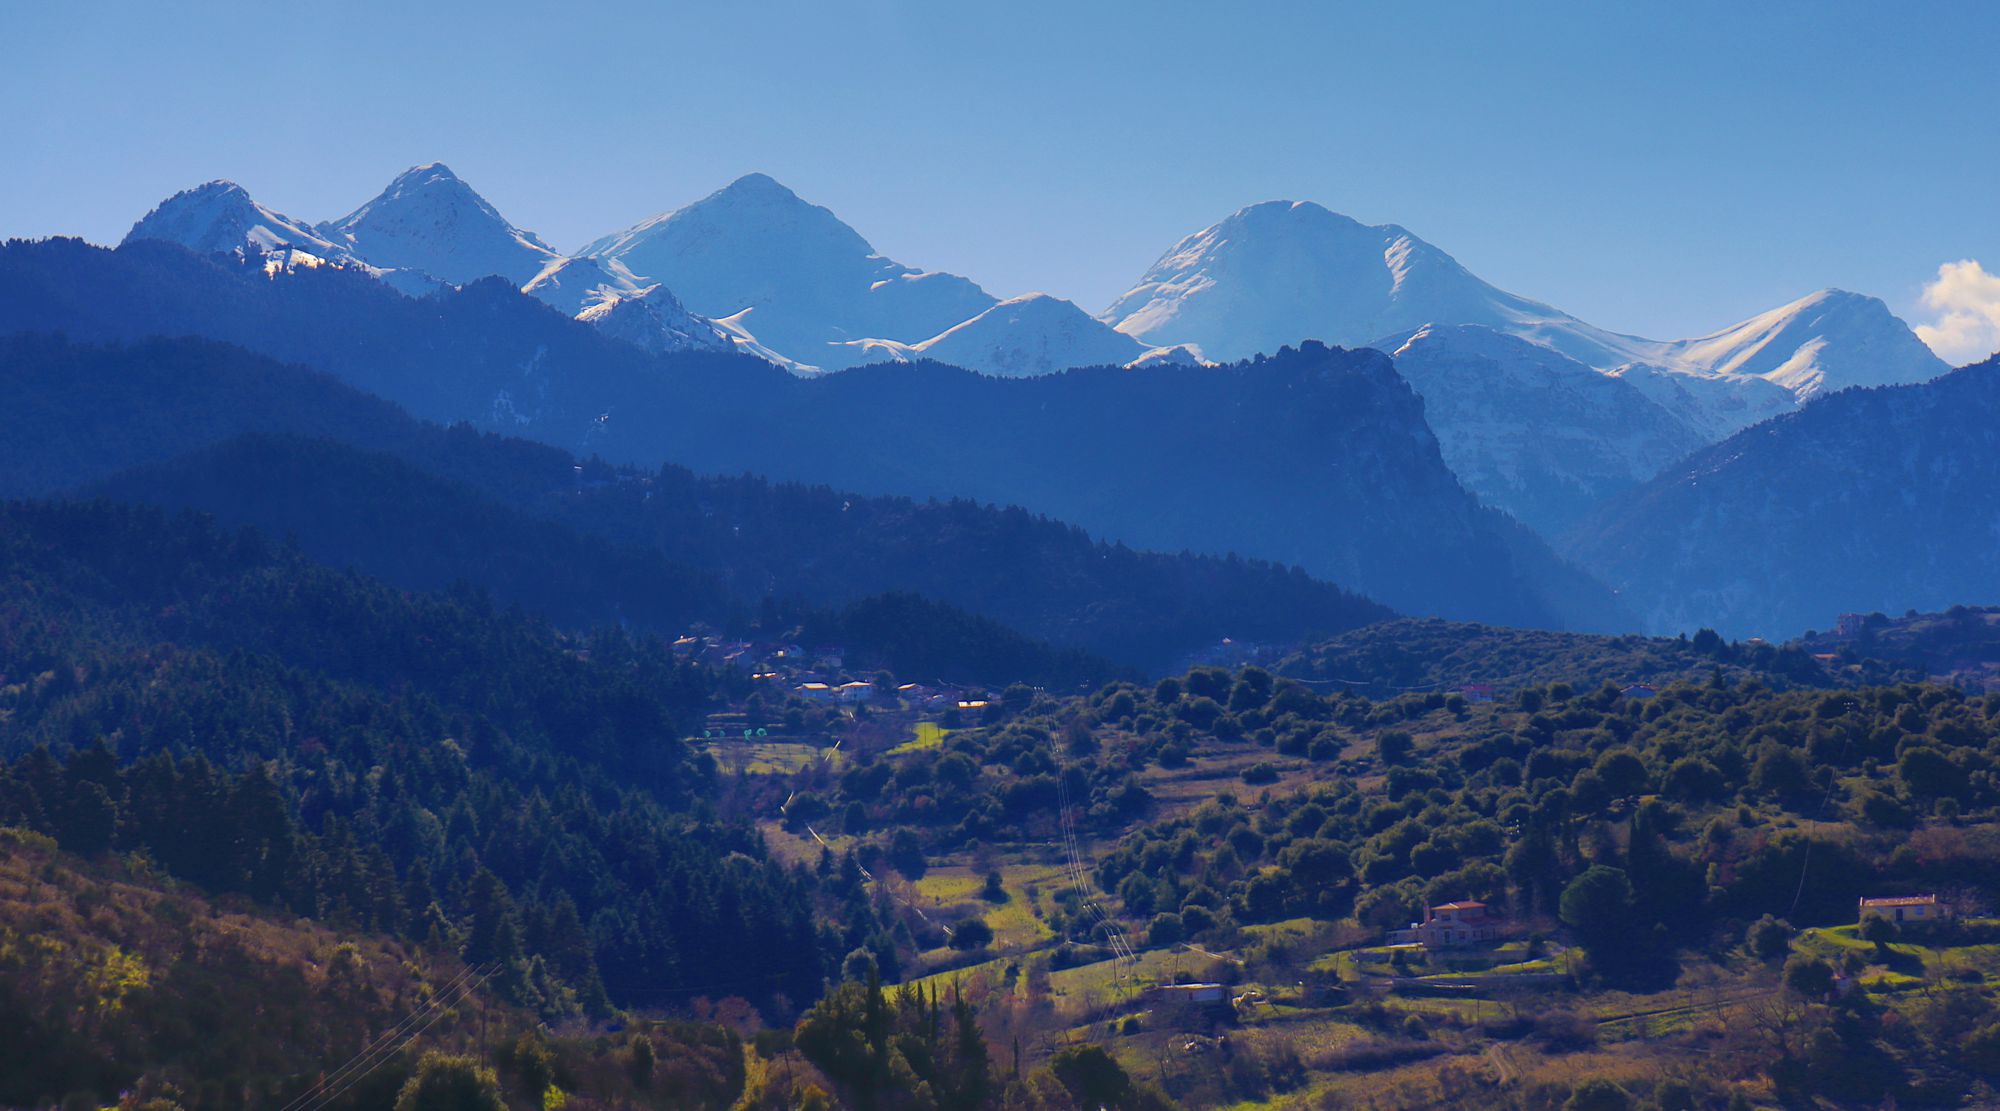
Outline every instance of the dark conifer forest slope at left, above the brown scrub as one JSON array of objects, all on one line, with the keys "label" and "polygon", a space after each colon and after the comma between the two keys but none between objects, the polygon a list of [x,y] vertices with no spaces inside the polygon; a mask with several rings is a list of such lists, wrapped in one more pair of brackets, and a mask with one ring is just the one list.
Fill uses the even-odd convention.
[{"label": "dark conifer forest slope at left, above the brown scrub", "polygon": [[874,929],[708,813],[676,719],[712,677],[656,641],[404,595],[196,518],[4,514],[0,825],[456,947],[552,1013],[802,1005]]}]

